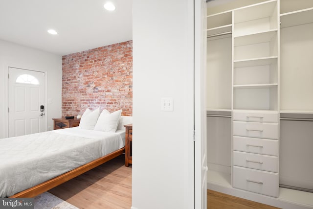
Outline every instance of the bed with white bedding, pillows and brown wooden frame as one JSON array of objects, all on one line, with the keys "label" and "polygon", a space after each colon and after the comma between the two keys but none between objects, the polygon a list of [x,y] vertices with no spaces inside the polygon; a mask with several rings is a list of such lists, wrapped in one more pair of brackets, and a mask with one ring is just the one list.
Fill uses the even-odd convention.
[{"label": "bed with white bedding, pillows and brown wooden frame", "polygon": [[89,128],[84,115],[80,127],[0,139],[0,197],[34,197],[125,152],[123,125],[131,116],[106,131],[102,113]]}]

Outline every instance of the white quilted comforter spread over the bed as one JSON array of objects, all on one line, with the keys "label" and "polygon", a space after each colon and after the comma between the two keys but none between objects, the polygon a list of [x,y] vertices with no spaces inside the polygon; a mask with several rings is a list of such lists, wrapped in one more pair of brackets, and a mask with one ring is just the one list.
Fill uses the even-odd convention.
[{"label": "white quilted comforter spread over the bed", "polygon": [[80,128],[0,139],[0,197],[38,185],[124,145],[125,131]]}]

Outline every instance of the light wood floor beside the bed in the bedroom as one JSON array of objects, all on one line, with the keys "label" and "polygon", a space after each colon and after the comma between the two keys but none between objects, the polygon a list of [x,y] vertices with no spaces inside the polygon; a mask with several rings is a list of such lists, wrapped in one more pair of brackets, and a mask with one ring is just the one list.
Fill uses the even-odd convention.
[{"label": "light wood floor beside the bed in the bedroom", "polygon": [[132,167],[121,155],[49,192],[80,209],[130,209]]}]

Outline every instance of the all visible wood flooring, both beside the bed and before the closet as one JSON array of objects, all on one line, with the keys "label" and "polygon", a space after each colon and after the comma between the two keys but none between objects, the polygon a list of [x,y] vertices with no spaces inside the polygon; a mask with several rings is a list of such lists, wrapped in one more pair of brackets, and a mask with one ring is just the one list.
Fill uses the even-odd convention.
[{"label": "all visible wood flooring, both beside the bed and before the closet", "polygon": [[[132,166],[125,167],[121,155],[49,192],[80,209],[130,209]],[[277,209],[212,190],[207,199],[208,209]]]}]

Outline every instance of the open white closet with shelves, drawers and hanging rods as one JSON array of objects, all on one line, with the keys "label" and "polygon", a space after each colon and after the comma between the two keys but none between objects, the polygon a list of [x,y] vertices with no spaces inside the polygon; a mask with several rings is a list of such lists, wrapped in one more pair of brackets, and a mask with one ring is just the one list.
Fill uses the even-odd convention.
[{"label": "open white closet with shelves, drawers and hanging rods", "polygon": [[313,0],[208,6],[206,74],[208,188],[313,208]]}]

